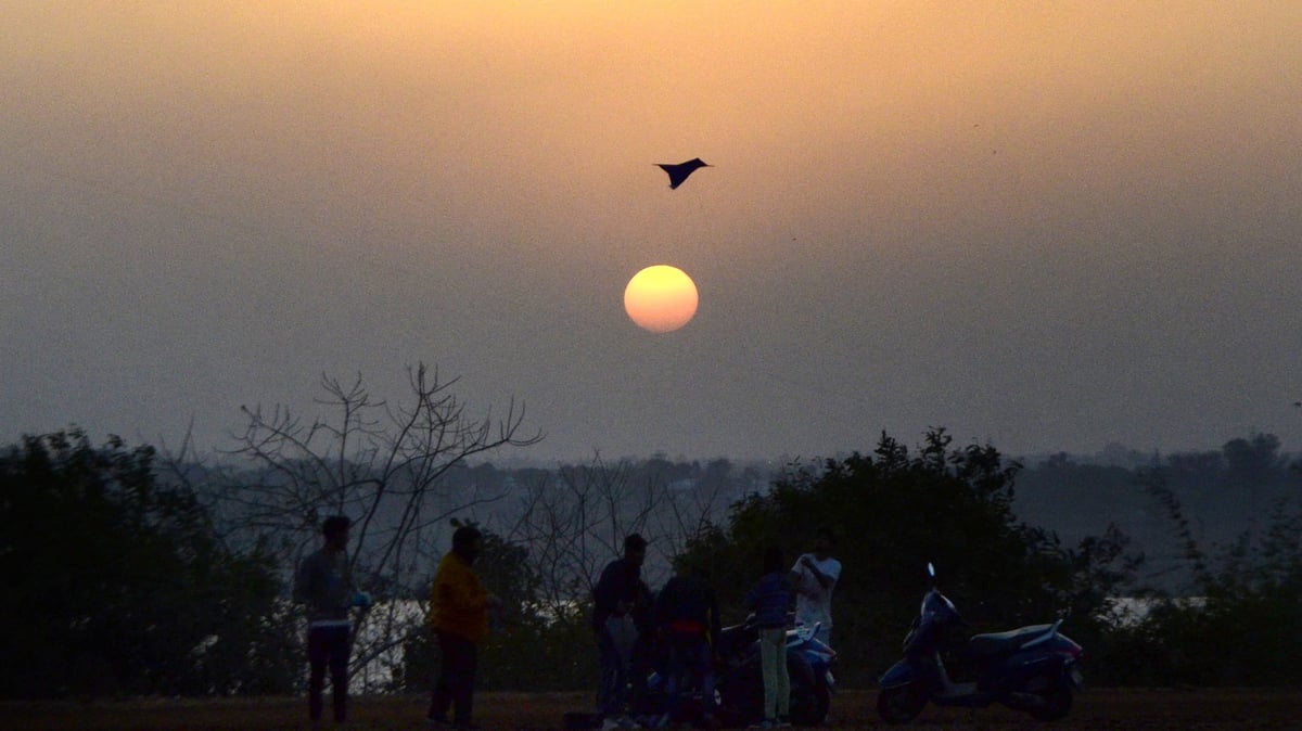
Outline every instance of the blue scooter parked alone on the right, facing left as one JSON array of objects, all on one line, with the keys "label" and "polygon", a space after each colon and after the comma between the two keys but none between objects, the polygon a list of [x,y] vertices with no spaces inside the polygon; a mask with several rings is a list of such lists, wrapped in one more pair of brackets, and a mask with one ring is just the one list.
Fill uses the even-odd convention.
[{"label": "blue scooter parked alone on the right, facing left", "polygon": [[936,588],[935,567],[928,563],[927,571],[932,587],[905,637],[904,658],[878,682],[878,715],[887,723],[907,723],[928,702],[962,708],[997,702],[1038,721],[1066,715],[1082,688],[1077,663],[1083,650],[1059,632],[1062,620],[973,636],[962,649],[976,680],[953,683],[940,654],[953,646],[954,630],[967,623]]}]

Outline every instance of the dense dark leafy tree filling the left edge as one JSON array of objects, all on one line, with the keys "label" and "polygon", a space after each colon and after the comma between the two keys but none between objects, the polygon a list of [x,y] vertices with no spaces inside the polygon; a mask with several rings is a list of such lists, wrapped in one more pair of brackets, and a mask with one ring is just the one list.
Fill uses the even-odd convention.
[{"label": "dense dark leafy tree filling the left edge", "polygon": [[275,562],[227,548],[154,458],[78,429],[0,455],[0,695],[292,688]]}]

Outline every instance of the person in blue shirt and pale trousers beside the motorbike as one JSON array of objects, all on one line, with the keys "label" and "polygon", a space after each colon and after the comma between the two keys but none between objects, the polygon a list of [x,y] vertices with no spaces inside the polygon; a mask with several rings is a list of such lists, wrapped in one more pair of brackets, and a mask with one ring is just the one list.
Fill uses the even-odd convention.
[{"label": "person in blue shirt and pale trousers beside the motorbike", "polygon": [[786,672],[786,613],[792,607],[792,584],[783,571],[780,548],[764,552],[764,575],[746,594],[746,607],[755,613],[759,666],[764,678],[764,719],[751,728],[789,727],[792,680]]}]

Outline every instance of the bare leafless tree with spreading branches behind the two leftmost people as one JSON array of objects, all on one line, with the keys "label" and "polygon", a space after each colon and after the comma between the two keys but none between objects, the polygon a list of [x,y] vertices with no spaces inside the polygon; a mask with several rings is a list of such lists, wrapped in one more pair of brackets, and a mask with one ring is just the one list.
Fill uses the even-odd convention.
[{"label": "bare leafless tree with spreading branches behind the two leftmost people", "polygon": [[[473,484],[453,486],[453,471],[543,434],[525,432],[525,408],[514,399],[499,418],[473,416],[450,390],[456,379],[443,381],[436,368],[419,364],[408,380],[406,399],[391,403],[375,398],[361,375],[350,382],[322,376],[318,403],[328,415],[311,420],[283,406],[242,407],[247,425],[225,453],[238,467],[206,479],[216,512],[245,533],[240,540],[272,537],[286,567],[314,549],[327,515],[346,515],[359,585],[380,598],[424,598],[448,518],[503,497]],[[419,605],[380,601],[362,618],[366,632],[358,635],[367,639],[354,649],[354,666],[392,654],[422,624],[413,606]]]}]

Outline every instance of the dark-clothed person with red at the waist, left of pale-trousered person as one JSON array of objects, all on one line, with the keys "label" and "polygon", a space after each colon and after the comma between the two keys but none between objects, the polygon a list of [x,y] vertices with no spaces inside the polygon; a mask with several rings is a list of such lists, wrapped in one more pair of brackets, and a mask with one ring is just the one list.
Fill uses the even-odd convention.
[{"label": "dark-clothed person with red at the waist, left of pale-trousered person", "polygon": [[669,713],[665,722],[682,715],[684,696],[695,680],[700,688],[700,726],[713,728],[715,659],[719,648],[719,601],[703,572],[678,563],[677,572],[656,597],[656,626],[668,657]]}]

